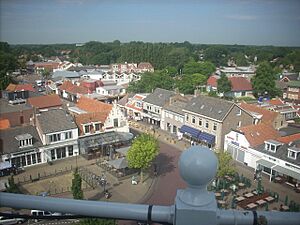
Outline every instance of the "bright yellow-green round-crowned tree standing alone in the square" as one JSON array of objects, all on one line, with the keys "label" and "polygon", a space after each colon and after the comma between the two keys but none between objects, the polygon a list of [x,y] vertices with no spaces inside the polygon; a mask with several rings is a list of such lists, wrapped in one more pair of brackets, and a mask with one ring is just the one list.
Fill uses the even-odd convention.
[{"label": "bright yellow-green round-crowned tree standing alone in the square", "polygon": [[158,148],[158,141],[150,134],[142,134],[134,139],[127,154],[128,166],[141,170],[141,182],[143,182],[143,171],[150,167],[158,155]]}]

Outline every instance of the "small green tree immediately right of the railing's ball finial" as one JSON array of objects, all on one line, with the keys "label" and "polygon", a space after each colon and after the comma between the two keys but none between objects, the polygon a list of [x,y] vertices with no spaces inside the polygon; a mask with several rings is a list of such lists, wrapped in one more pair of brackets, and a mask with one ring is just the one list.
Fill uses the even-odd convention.
[{"label": "small green tree immediately right of the railing's ball finial", "polygon": [[219,160],[219,166],[217,171],[218,178],[224,178],[227,176],[232,176],[235,173],[235,168],[232,165],[232,157],[228,152],[217,153]]}]

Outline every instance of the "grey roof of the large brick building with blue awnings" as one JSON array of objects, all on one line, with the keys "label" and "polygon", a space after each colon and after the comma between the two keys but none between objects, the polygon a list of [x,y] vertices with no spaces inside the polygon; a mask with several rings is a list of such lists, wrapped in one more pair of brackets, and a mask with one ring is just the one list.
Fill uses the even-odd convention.
[{"label": "grey roof of the large brick building with blue awnings", "polygon": [[200,95],[192,98],[184,110],[222,121],[233,105],[233,102]]}]

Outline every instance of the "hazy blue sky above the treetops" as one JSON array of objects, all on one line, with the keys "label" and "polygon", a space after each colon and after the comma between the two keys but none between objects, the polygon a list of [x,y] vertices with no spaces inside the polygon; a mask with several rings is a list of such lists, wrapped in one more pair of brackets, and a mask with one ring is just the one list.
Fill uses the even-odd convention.
[{"label": "hazy blue sky above the treetops", "polygon": [[0,40],[300,46],[300,1],[0,0]]}]

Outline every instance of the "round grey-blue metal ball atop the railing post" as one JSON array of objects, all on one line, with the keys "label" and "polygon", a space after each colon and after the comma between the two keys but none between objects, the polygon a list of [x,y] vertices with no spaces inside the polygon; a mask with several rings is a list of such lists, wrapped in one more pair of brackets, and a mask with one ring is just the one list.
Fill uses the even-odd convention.
[{"label": "round grey-blue metal ball atop the railing post", "polygon": [[207,186],[215,177],[218,167],[216,155],[207,147],[192,146],[179,159],[182,179],[190,187]]}]

